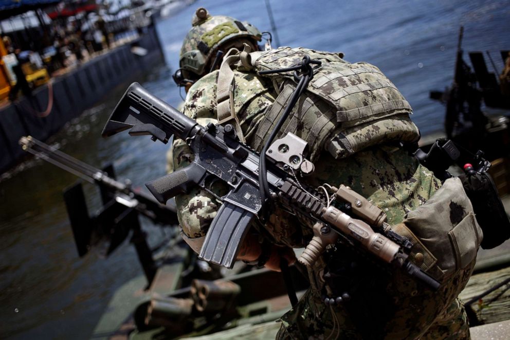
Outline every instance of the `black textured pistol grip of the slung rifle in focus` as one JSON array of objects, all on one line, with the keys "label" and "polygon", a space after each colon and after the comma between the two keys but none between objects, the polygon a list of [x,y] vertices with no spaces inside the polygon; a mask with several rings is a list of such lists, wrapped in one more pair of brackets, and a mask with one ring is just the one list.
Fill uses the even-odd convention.
[{"label": "black textured pistol grip of the slung rifle in focus", "polygon": [[204,177],[206,170],[196,163],[145,184],[159,203],[165,204],[179,193],[189,192]]}]

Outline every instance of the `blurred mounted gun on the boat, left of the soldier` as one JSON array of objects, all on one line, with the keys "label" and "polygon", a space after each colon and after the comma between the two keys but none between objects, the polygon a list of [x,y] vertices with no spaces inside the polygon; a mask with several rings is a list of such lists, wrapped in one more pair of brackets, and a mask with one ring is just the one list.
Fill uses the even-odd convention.
[{"label": "blurred mounted gun on the boat, left of the soldier", "polygon": [[19,143],[23,150],[99,186],[103,207],[93,217],[88,214],[80,182],[64,190],[78,255],[83,257],[92,247],[101,244],[107,244],[105,255],[110,255],[132,230],[131,242],[150,283],[156,274],[156,265],[138,216],[141,214],[155,224],[174,226],[178,224],[175,208],[163,206],[150,195],[134,190],[130,180],[124,183],[115,180],[111,165],[104,170],[96,169],[31,136],[21,137]]}]

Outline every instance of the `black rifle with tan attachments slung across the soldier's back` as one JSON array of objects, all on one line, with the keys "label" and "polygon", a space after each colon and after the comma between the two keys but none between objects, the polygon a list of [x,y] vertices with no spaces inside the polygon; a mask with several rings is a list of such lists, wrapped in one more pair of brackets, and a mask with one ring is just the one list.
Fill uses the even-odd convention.
[{"label": "black rifle with tan attachments slung across the soldier's back", "polygon": [[[145,185],[162,204],[197,185],[223,202],[198,257],[231,268],[250,222],[261,214],[260,155],[239,141],[231,124],[223,127],[209,123],[203,127],[138,83],[128,87],[102,136],[125,130],[134,136],[150,135],[152,140],[163,143],[172,135],[187,142],[194,154],[193,162]],[[275,140],[265,154],[269,161],[268,195],[284,209],[314,224],[314,237],[298,261],[311,265],[327,244],[341,238],[345,244],[363,248],[430,288],[438,289],[440,283],[409,260],[412,243],[388,230],[386,214],[381,209],[343,185],[310,188],[300,183],[298,175],[313,171],[313,164],[305,159],[306,148],[304,140],[288,133]],[[210,188],[216,180],[230,188],[223,197]],[[332,204],[333,200],[342,202],[340,208]]]}]

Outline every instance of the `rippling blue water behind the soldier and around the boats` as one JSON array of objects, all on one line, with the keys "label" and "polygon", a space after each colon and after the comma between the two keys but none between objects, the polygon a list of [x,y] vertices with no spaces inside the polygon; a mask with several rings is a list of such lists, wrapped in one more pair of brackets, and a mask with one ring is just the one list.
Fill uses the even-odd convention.
[{"label": "rippling blue water behind the soldier and around the boats", "polygon": [[[459,26],[465,27],[465,50],[489,50],[499,73],[499,50],[510,49],[509,5],[271,1],[282,45],[343,51],[346,60],[377,65],[413,106],[413,120],[423,135],[442,130],[444,108],[428,99],[428,92],[451,82]],[[159,22],[168,66],[156,65],[139,82],[175,106],[180,97],[171,74],[198,6],[270,30],[262,1],[199,1]],[[96,167],[113,161],[119,178],[141,186],[163,174],[167,146],[128,134],[100,137],[124,88],[70,122],[50,144]],[[20,169],[0,182],[0,337],[89,338],[116,289],[141,274],[134,249],[125,244],[106,260],[96,254],[79,259],[62,201],[62,190],[76,178],[40,161],[29,160]],[[88,203],[97,209],[95,188],[86,191]],[[148,224],[144,228],[155,231]]]}]

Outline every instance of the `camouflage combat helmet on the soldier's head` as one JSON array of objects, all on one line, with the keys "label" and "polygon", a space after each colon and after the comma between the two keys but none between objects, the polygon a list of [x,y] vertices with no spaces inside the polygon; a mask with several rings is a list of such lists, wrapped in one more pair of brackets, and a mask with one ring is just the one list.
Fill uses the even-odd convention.
[{"label": "camouflage combat helmet on the soldier's head", "polygon": [[262,38],[257,27],[248,22],[240,22],[224,15],[211,16],[203,7],[195,11],[191,24],[193,27],[186,35],[180,50],[180,68],[173,76],[177,85],[194,82],[209,73],[212,66],[218,64],[219,60],[216,59],[220,59],[216,58],[218,47],[224,48],[228,43],[240,38],[257,47],[257,42]]}]

